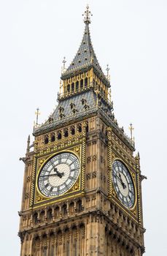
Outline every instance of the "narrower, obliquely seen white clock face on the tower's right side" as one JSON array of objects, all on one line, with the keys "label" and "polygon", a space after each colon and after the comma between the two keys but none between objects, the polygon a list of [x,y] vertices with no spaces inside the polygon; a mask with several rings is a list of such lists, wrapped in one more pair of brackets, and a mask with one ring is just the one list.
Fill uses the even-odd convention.
[{"label": "narrower, obliquely seen white clock face on the tower's right side", "polygon": [[135,202],[135,190],[131,174],[123,162],[114,161],[112,165],[112,181],[117,197],[127,208],[131,208]]}]

